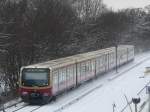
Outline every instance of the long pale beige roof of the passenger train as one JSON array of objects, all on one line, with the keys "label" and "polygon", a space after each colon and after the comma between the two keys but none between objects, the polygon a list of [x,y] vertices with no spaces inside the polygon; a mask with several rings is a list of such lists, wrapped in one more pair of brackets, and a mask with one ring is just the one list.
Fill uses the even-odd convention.
[{"label": "long pale beige roof of the passenger train", "polygon": [[[119,49],[124,49],[127,47],[131,47],[130,45],[119,45]],[[87,53],[81,53],[73,56],[68,56],[65,58],[59,58],[55,60],[50,60],[47,62],[43,63],[38,63],[38,64],[33,64],[33,65],[28,65],[22,68],[50,68],[50,69],[55,69],[55,68],[60,68],[63,66],[71,65],[74,63],[82,62],[88,59],[96,58],[99,57],[103,54],[106,54],[108,52],[112,52],[115,50],[115,47],[110,47],[106,49],[101,49],[101,50],[96,50],[92,52],[87,52]]]}]

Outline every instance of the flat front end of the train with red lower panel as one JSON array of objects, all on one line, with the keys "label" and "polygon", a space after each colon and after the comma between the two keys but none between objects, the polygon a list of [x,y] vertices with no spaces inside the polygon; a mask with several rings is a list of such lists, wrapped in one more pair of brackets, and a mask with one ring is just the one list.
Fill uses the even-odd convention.
[{"label": "flat front end of the train with red lower panel", "polygon": [[50,69],[22,69],[20,74],[19,93],[24,102],[48,103],[52,97],[50,85]]}]

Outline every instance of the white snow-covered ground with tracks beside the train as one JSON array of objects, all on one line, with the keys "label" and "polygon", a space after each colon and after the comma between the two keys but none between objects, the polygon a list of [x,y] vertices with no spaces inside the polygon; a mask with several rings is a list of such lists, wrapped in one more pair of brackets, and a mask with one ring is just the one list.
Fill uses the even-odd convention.
[{"label": "white snow-covered ground with tracks beside the train", "polygon": [[[149,60],[142,61],[148,57]],[[141,97],[138,106],[140,109],[143,102],[147,100],[146,90],[143,87],[150,82],[150,75],[144,76],[147,66],[150,66],[150,53],[138,55],[135,61],[119,68],[118,73],[111,71],[60,95],[55,102],[39,108],[27,106],[17,112],[30,112],[33,108],[38,108],[34,112],[113,112],[113,104],[115,104],[114,112],[121,112],[127,105],[127,100],[130,102],[143,90],[138,95]],[[5,111],[13,112],[15,108],[19,108],[19,105]],[[131,108],[134,109],[133,104]],[[129,106],[123,112],[130,112]]]}]

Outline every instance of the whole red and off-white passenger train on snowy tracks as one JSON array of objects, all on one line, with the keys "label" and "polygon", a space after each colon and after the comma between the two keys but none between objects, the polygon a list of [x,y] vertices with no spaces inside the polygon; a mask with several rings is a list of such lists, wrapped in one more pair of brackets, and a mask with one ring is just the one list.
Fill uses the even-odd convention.
[{"label": "whole red and off-white passenger train on snowy tracks", "polygon": [[[117,56],[116,56],[117,54]],[[116,61],[117,57],[117,61]],[[119,45],[21,68],[20,96],[24,102],[48,103],[70,88],[134,59],[134,46]]]}]

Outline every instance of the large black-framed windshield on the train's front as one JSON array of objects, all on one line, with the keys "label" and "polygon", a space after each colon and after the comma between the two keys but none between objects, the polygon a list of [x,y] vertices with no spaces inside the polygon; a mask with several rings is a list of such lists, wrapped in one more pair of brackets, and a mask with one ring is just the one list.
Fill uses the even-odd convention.
[{"label": "large black-framed windshield on the train's front", "polygon": [[49,69],[26,68],[22,71],[22,85],[44,87],[49,85]]}]

